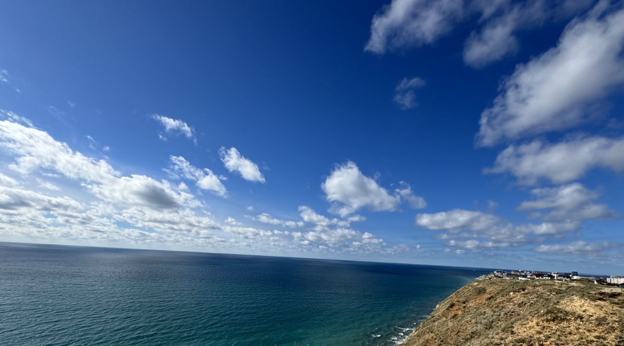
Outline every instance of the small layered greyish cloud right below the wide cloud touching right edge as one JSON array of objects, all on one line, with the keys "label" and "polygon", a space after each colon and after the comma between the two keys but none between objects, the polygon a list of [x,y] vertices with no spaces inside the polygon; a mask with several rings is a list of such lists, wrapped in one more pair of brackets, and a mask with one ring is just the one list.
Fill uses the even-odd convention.
[{"label": "small layered greyish cloud right below the wide cloud touching right edge", "polygon": [[550,209],[547,214],[535,214],[534,218],[548,221],[612,219],[617,213],[605,204],[595,204],[596,191],[588,190],[580,183],[558,186],[556,188],[537,188],[531,191],[537,199],[524,201],[520,209]]}]

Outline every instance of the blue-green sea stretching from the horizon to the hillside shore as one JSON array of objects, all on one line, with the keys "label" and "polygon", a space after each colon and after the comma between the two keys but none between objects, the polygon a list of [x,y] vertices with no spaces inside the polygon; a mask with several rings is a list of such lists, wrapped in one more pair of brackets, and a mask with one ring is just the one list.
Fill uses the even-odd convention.
[{"label": "blue-green sea stretching from the horizon to the hillside shore", "polygon": [[0,344],[393,345],[487,272],[0,243]]}]

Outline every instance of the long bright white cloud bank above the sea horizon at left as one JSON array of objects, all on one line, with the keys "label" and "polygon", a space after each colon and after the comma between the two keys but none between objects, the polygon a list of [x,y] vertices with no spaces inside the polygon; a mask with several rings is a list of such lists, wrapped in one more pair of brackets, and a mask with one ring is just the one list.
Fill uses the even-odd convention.
[{"label": "long bright white cloud bank above the sea horizon at left", "polygon": [[[22,122],[23,123],[23,122]],[[313,229],[289,232],[258,229],[228,217],[218,223],[203,210],[184,183],[145,175],[124,176],[104,160],[95,160],[57,142],[47,132],[12,121],[0,121],[0,148],[14,158],[8,168],[21,173],[21,181],[0,173],[0,233],[13,241],[188,248],[204,251],[245,249],[250,252],[327,252],[334,254],[398,254],[403,244],[387,245],[368,232],[349,228],[363,221],[359,215],[328,219],[306,207],[306,221],[283,221],[260,214],[258,220],[274,226]],[[207,170],[190,165],[182,156],[172,156],[170,174],[200,183]],[[72,189],[79,199],[48,196],[23,188],[29,175],[64,180],[84,190]],[[218,192],[218,189],[217,191]],[[63,193],[61,189],[54,191]],[[124,226],[120,226],[123,224]],[[321,226],[326,224],[327,226]]]}]

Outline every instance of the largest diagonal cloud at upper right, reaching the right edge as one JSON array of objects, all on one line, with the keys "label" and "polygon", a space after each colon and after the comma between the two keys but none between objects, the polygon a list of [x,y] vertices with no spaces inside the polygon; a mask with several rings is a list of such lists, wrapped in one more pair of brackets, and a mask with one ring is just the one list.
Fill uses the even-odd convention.
[{"label": "largest diagonal cloud at upper right, reaching the right edge", "polygon": [[555,130],[593,116],[592,107],[624,82],[624,10],[601,1],[574,19],[557,47],[518,65],[481,115],[479,145]]}]

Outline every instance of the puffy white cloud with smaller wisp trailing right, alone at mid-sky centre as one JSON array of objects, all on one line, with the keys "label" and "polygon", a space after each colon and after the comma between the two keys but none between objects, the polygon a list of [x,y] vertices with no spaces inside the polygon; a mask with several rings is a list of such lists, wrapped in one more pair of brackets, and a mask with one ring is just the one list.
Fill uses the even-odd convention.
[{"label": "puffy white cloud with smaller wisp trailing right, alone at mid-sky centre", "polygon": [[331,211],[343,218],[361,208],[395,211],[401,205],[402,195],[412,206],[421,208],[425,205],[424,199],[413,195],[409,185],[402,183],[402,186],[402,189],[397,189],[396,195],[391,195],[373,178],[363,175],[352,161],[336,166],[321,184],[327,201],[334,203]]}]

